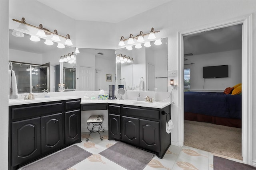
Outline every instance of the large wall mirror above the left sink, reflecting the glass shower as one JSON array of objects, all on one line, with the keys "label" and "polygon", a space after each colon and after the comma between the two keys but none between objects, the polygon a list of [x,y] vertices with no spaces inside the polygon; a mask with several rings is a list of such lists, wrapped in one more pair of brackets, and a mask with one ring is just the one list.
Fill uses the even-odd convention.
[{"label": "large wall mirror above the left sink, reflecting the glass shower", "polygon": [[[36,92],[42,92],[40,89],[48,88],[50,92],[58,92],[58,84],[63,80],[68,85],[68,89],[75,90],[75,76],[76,76],[76,64],[63,64],[63,67],[60,67],[60,56],[68,55],[75,51],[74,47],[65,46],[65,48],[60,49],[57,47],[57,43],[54,42],[53,45],[46,45],[44,39],[41,39],[39,42],[30,41],[30,35],[24,33],[24,36],[16,37],[16,33],[13,30],[9,30],[9,61],[14,63],[21,63],[17,65],[17,68],[21,69],[23,66],[48,66],[47,82],[37,83],[40,88]],[[15,65],[16,66],[16,65]],[[57,68],[57,69],[56,69]],[[61,68],[61,69],[60,69]],[[15,72],[18,74],[19,72]],[[39,74],[35,74],[36,76]],[[43,74],[41,74],[43,75]],[[60,77],[63,76],[63,77]],[[17,75],[16,75],[17,76]],[[32,76],[32,77],[33,77]],[[19,75],[18,75],[19,77]],[[37,76],[38,77],[38,76]],[[16,77],[17,78],[17,77]],[[45,78],[45,77],[44,77]],[[42,78],[40,78],[40,81]],[[27,82],[28,83],[28,82]],[[42,85],[44,84],[44,85]],[[34,85],[26,86],[20,88],[20,93],[35,91]],[[30,90],[29,90],[30,88]]]}]

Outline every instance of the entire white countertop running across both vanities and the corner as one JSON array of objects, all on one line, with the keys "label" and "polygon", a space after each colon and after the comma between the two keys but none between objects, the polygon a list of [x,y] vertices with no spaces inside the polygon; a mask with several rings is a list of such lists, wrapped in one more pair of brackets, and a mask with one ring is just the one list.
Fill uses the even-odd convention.
[{"label": "entire white countertop running across both vanities and the corner", "polygon": [[[9,106],[22,105],[22,104],[33,104],[42,102],[54,102],[59,100],[71,100],[71,99],[81,99],[78,96],[58,96],[50,98],[36,98],[34,100],[23,100],[23,99],[9,99]],[[97,103],[109,103],[109,104],[122,104],[130,106],[142,106],[142,107],[152,107],[162,109],[168,105],[170,102],[145,102],[137,100],[81,100],[81,104],[97,104]]]}]

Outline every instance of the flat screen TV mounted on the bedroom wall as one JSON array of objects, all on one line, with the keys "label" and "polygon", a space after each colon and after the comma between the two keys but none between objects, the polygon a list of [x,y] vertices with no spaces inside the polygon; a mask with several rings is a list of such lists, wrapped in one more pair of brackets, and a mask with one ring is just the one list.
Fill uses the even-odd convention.
[{"label": "flat screen TV mounted on the bedroom wall", "polygon": [[228,77],[228,65],[203,67],[203,78]]}]

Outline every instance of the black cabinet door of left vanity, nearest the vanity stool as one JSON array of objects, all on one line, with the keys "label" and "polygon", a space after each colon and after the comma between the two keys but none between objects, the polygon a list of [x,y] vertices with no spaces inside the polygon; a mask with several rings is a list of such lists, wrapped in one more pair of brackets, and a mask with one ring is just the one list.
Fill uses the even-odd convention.
[{"label": "black cabinet door of left vanity, nearest the vanity stool", "polygon": [[81,110],[66,111],[65,120],[65,143],[81,142]]}]

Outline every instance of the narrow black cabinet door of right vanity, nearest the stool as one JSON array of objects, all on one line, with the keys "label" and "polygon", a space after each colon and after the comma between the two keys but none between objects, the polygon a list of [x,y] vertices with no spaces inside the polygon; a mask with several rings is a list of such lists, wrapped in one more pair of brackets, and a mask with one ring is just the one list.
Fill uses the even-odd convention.
[{"label": "narrow black cabinet door of right vanity, nearest the stool", "polygon": [[108,139],[121,139],[120,115],[108,114]]}]

